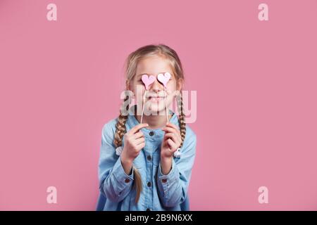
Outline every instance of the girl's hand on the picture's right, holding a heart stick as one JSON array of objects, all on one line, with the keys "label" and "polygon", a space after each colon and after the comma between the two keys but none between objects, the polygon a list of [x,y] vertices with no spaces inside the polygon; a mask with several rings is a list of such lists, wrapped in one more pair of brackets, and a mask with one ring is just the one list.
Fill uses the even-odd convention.
[{"label": "girl's hand on the picture's right, holding a heart stick", "polygon": [[170,122],[162,130],[165,131],[165,135],[161,144],[161,158],[172,158],[182,143],[180,130]]}]

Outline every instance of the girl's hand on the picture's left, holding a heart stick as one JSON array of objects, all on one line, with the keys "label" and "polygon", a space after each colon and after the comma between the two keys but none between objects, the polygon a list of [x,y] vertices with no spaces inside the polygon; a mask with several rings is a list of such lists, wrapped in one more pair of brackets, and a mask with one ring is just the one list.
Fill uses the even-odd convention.
[{"label": "girl's hand on the picture's left, holding a heart stick", "polygon": [[121,160],[133,162],[137,158],[140,150],[145,146],[144,134],[139,130],[148,126],[149,124],[137,124],[125,134],[125,145],[121,153]]}]

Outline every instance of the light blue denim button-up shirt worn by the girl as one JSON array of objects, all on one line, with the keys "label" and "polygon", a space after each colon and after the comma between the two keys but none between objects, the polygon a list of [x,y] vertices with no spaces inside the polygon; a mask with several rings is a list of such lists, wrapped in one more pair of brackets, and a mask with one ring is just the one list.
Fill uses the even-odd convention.
[{"label": "light blue denim button-up shirt worn by the girl", "polygon": [[[170,111],[170,113],[173,113]],[[172,168],[168,174],[161,172],[161,142],[164,131],[142,128],[145,146],[133,161],[142,176],[142,192],[135,203],[136,191],[133,188],[134,174],[125,174],[120,156],[116,155],[113,144],[118,118],[104,124],[101,134],[99,158],[99,199],[97,210],[142,211],[142,210],[189,210],[187,194],[189,179],[196,153],[196,134],[186,125],[185,140],[180,148],[180,157],[173,156]],[[178,116],[173,113],[170,122],[178,124]],[[129,110],[125,124],[129,131],[139,122]],[[124,145],[124,137],[123,137]]]}]

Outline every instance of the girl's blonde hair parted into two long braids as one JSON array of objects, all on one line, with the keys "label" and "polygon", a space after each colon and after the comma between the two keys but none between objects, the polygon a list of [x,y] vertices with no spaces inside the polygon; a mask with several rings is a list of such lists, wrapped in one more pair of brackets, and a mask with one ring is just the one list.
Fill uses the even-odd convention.
[{"label": "girl's blonde hair parted into two long braids", "polygon": [[[180,63],[180,58],[178,57],[178,54],[169,46],[166,46],[164,44],[158,44],[158,45],[151,44],[147,46],[142,46],[136,51],[130,53],[130,55],[128,56],[125,62],[125,77],[126,77],[127,87],[130,83],[130,80],[132,80],[136,74],[137,63],[139,63],[139,61],[142,60],[143,58],[147,58],[149,56],[161,56],[169,60],[170,67],[173,70],[173,74],[175,75],[177,84],[179,79],[184,80],[184,72],[182,70],[182,64]],[[130,99],[129,96],[125,97],[125,101],[128,101],[129,99]],[[178,122],[180,124],[180,135],[182,137],[182,143],[180,144],[180,148],[181,148],[185,139],[185,134],[186,134],[185,114],[183,112],[183,107],[182,107],[182,92],[181,91],[180,91],[180,94],[176,96],[176,102],[178,105],[178,114],[179,114]],[[128,105],[125,105],[126,110],[129,110],[129,105],[130,103]],[[124,134],[127,131],[125,128],[125,122],[127,122],[128,120],[128,115],[123,115],[123,113],[121,112],[122,110],[120,110],[120,115],[118,117],[118,122],[116,124],[116,133],[113,140],[113,143],[116,146],[116,148],[118,148],[119,146],[122,146],[122,139]],[[137,171],[137,168],[133,167],[133,173],[134,173],[133,186],[137,192],[135,203],[137,203],[139,201],[139,196],[142,192],[142,179],[141,179],[141,175]]]}]

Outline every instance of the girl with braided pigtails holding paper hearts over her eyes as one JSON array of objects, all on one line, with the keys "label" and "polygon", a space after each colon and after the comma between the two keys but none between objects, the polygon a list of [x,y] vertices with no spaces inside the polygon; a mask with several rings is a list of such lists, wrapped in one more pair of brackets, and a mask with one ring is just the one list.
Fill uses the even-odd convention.
[{"label": "girl with braided pigtails holding paper hearts over her eyes", "polygon": [[[165,86],[157,76],[166,72],[170,80]],[[163,44],[143,46],[128,56],[125,75],[126,89],[142,103],[123,104],[128,113],[120,110],[102,129],[97,210],[189,210],[196,135],[185,124],[182,110],[180,58]],[[142,75],[153,76],[149,86],[144,86]],[[168,110],[167,116],[173,98],[179,115]],[[148,115],[136,113],[145,103]]]}]

